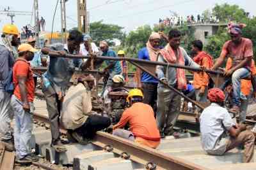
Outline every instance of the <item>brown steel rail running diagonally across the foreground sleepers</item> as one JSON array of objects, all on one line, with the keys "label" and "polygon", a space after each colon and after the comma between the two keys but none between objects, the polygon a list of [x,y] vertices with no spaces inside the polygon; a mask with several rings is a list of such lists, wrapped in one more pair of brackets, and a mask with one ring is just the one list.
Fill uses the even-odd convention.
[{"label": "brown steel rail running diagonally across the foreground sleepers", "polygon": [[[36,120],[42,121],[45,124],[49,124],[47,116],[34,113]],[[60,131],[66,133],[67,131],[61,127]],[[148,163],[156,164],[157,169],[168,169],[168,170],[209,170],[205,167],[198,166],[192,162],[187,162],[184,159],[166,155],[158,150],[148,148],[147,146],[138,145],[127,139],[113,136],[106,132],[97,132],[95,139],[92,141],[93,145],[97,145],[100,148],[106,148],[106,146],[113,147],[111,152],[118,155],[127,153],[129,159],[134,162],[138,162],[143,165]]]}]

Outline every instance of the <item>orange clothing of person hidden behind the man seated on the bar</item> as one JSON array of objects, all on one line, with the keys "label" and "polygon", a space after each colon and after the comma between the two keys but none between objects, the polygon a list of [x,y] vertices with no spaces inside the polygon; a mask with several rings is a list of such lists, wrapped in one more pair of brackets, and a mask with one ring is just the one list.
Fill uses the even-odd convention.
[{"label": "orange clothing of person hidden behind the man seated on the bar", "polygon": [[[255,62],[254,60],[252,60],[252,74],[254,72],[254,74],[256,73],[256,67],[255,67]],[[226,70],[229,70],[231,69],[232,67],[232,59],[230,57],[228,57],[228,60],[227,60],[227,64],[226,64]],[[244,79],[241,79],[241,92],[245,95],[245,96],[248,96],[251,94],[252,92],[252,82],[251,80],[244,80]]]}]

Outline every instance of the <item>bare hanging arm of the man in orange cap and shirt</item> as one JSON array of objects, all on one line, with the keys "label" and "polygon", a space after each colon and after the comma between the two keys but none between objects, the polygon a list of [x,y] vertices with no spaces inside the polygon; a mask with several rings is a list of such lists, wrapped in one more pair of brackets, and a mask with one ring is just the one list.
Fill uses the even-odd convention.
[{"label": "bare hanging arm of the man in orange cap and shirt", "polygon": [[17,78],[19,82],[20,97],[23,103],[23,109],[25,111],[30,111],[30,106],[29,106],[28,97],[27,97],[28,92],[26,89],[27,76],[17,76]]}]

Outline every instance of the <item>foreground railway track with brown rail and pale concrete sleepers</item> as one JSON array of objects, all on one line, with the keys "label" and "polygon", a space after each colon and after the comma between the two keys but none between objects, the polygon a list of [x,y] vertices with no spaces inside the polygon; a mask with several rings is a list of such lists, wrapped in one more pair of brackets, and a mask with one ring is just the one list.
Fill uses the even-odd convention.
[{"label": "foreground railway track with brown rail and pale concrete sleepers", "polygon": [[[88,145],[67,144],[68,152],[60,155],[49,150],[51,132],[44,101],[35,101],[35,143],[38,153],[44,155],[49,162],[72,165],[77,169],[220,169],[251,170],[256,163],[242,164],[243,152],[232,150],[225,156],[207,155],[200,146],[200,137],[174,139],[168,136],[154,150],[137,145],[131,141],[118,138],[106,132],[97,132],[95,139]],[[42,127],[44,126],[44,130]],[[45,130],[46,129],[48,130]],[[65,134],[65,129],[60,129]],[[48,148],[47,148],[48,147]],[[46,148],[46,149],[45,149]],[[46,150],[46,151],[44,151]],[[52,159],[53,158],[53,159]],[[234,164],[236,163],[236,164]]]}]

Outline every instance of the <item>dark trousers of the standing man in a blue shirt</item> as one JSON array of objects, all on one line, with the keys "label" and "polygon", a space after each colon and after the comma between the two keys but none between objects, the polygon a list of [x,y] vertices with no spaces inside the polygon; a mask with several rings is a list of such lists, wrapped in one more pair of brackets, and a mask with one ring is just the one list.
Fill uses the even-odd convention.
[{"label": "dark trousers of the standing man in a blue shirt", "polygon": [[157,85],[158,83],[142,83],[143,103],[149,104],[156,113],[157,101]]}]

